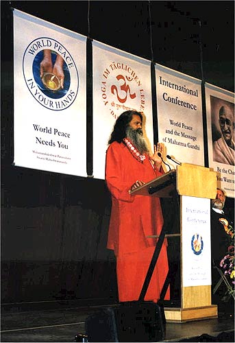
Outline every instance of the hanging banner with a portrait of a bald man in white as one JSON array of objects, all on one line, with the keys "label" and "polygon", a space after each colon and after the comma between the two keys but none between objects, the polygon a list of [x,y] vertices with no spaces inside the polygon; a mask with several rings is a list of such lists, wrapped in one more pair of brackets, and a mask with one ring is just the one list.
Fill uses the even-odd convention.
[{"label": "hanging banner with a portrait of a bald man in white", "polygon": [[217,186],[234,198],[234,93],[206,84],[209,167]]}]

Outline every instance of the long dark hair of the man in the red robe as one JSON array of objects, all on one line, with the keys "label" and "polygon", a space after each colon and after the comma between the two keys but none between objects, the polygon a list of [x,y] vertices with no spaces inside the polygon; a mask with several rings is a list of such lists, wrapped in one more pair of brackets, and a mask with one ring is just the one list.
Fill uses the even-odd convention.
[{"label": "long dark hair of the man in the red robe", "polygon": [[116,119],[116,123],[114,124],[114,130],[110,135],[108,144],[111,144],[115,141],[119,143],[123,141],[123,138],[125,138],[126,134],[126,128],[129,125],[129,122],[132,120],[133,115],[138,115],[141,121],[143,121],[143,115],[137,112],[137,110],[126,110],[118,117],[118,119]]}]

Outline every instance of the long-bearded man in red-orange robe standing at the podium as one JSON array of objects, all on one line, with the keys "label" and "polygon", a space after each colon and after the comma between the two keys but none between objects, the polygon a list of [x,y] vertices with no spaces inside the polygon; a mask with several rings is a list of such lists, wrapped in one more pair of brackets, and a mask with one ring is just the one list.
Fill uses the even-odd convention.
[{"label": "long-bearded man in red-orange robe standing at the podium", "polygon": [[[160,235],[163,224],[159,198],[129,193],[164,174],[158,156],[163,145],[154,145],[154,153],[149,153],[142,123],[140,113],[122,113],[114,124],[106,153],[106,182],[112,196],[107,247],[116,256],[120,302],[138,300],[156,246],[156,239],[147,236]],[[164,241],[145,300],[159,300],[167,272]],[[169,289],[165,298],[169,299]]]}]

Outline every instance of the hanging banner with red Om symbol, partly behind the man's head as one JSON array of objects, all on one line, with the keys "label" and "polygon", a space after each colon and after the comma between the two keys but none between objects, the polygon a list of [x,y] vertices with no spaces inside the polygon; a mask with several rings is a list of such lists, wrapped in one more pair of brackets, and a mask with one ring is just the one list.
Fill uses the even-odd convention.
[{"label": "hanging banner with red Om symbol, partly behind the man's head", "polygon": [[150,61],[93,41],[93,174],[104,179],[108,140],[125,110],[144,113],[143,131],[153,151]]}]

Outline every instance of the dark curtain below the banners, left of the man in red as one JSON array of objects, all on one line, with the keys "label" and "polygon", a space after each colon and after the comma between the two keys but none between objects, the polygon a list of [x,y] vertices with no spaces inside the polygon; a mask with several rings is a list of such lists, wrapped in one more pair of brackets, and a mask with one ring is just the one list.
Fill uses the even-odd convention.
[{"label": "dark curtain below the banners, left of the man in red", "polygon": [[115,302],[104,182],[4,165],[2,182],[2,303]]}]

